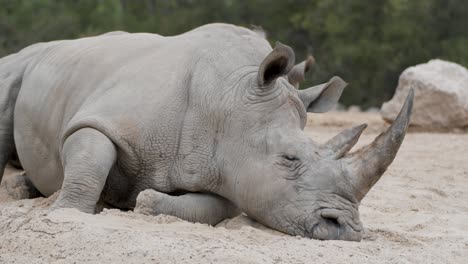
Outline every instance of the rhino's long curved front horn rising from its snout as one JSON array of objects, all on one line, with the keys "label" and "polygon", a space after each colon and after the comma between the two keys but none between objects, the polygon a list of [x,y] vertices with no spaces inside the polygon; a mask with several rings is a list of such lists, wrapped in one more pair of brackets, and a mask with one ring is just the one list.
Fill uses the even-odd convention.
[{"label": "rhino's long curved front horn rising from its snout", "polygon": [[411,117],[414,91],[410,90],[397,118],[374,142],[357,152],[345,156],[342,161],[348,170],[356,198],[361,201],[392,163],[403,139]]}]

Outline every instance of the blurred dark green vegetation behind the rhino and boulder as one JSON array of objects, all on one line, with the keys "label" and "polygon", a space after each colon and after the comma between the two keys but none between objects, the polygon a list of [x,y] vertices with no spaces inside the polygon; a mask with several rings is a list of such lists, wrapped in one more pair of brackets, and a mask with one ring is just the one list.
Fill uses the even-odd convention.
[{"label": "blurred dark green vegetation behind the rhino and boulder", "polygon": [[32,43],[112,30],[174,35],[226,22],[263,27],[313,54],[302,87],[340,75],[346,105],[380,106],[408,66],[441,58],[468,66],[466,0],[0,0],[0,57]]}]

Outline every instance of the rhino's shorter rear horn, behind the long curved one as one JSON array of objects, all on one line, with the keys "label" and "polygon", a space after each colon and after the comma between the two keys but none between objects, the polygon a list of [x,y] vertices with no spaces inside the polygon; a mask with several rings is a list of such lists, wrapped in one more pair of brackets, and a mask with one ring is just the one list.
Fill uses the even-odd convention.
[{"label": "rhino's shorter rear horn, behind the long curved one", "polygon": [[348,128],[322,145],[325,155],[334,159],[342,158],[356,145],[367,124]]}]

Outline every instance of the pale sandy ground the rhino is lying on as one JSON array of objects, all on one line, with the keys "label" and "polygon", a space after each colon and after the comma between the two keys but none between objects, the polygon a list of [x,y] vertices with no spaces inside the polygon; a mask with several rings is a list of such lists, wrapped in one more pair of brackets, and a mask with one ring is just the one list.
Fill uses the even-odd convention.
[{"label": "pale sandy ground the rhino is lying on", "polygon": [[[309,117],[317,141],[368,122],[362,145],[386,126],[378,114]],[[362,242],[291,237],[246,216],[211,227],[115,209],[48,212],[53,199],[15,201],[0,188],[0,263],[468,263],[468,134],[407,135],[362,202]]]}]

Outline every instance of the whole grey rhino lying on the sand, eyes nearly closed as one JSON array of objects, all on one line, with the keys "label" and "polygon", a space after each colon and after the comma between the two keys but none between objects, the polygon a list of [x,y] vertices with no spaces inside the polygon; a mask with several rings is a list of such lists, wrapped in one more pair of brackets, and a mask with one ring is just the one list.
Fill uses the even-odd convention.
[{"label": "whole grey rhino lying on the sand, eyes nearly closed", "polygon": [[[320,145],[306,111],[344,86],[298,91],[294,53],[245,28],[116,32],[32,45],[0,59],[0,166],[18,155],[53,208],[96,204],[216,224],[240,211],[279,231],[359,241],[358,206],[393,160],[412,95],[373,144],[365,125]],[[300,67],[300,66],[298,66]],[[294,85],[294,86],[293,86]]]}]

